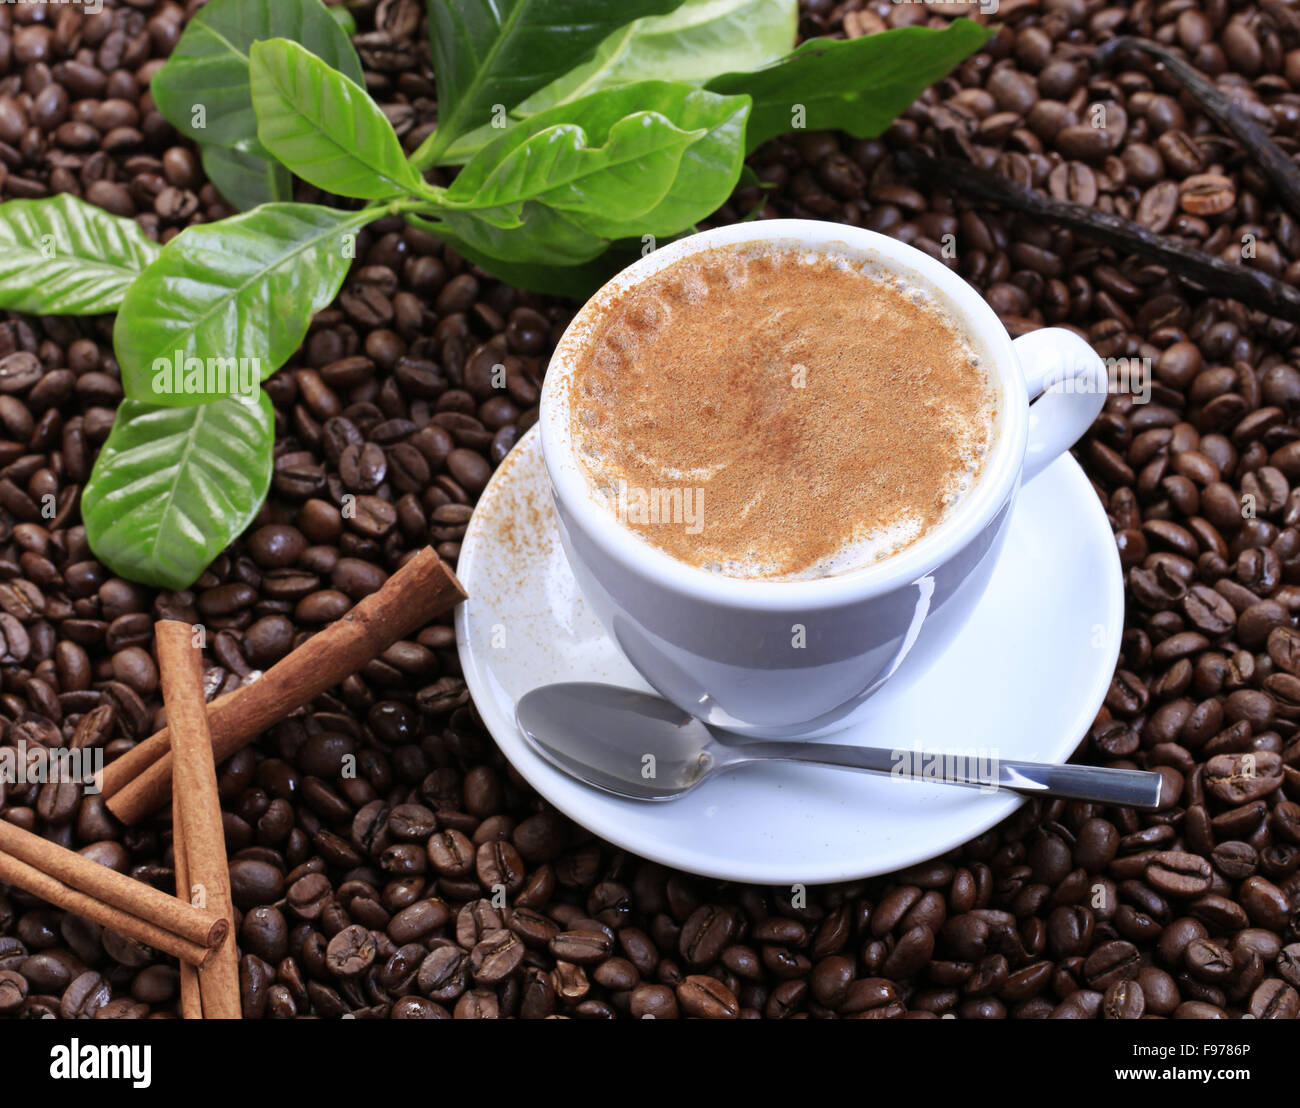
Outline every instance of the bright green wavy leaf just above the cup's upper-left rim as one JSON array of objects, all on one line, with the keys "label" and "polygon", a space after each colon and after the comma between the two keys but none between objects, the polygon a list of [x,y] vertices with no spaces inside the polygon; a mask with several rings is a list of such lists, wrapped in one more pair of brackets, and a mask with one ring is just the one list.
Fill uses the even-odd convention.
[{"label": "bright green wavy leaf just above the cup's upper-left rim", "polygon": [[[734,186],[748,107],[744,96],[655,81],[584,96],[484,147],[447,190],[445,205],[502,229],[521,226],[545,207],[608,239],[675,234],[712,212]],[[688,160],[706,138],[703,156]]]}]

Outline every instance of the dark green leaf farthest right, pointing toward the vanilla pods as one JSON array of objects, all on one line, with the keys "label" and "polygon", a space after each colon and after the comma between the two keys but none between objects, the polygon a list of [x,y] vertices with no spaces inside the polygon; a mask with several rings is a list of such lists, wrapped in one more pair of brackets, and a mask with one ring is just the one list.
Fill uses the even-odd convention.
[{"label": "dark green leaf farthest right, pointing toward the vanilla pods", "polygon": [[809,39],[775,65],[715,77],[705,87],[754,98],[749,150],[800,122],[810,131],[872,138],[991,35],[970,20],[954,20],[937,31],[898,27],[848,42]]}]

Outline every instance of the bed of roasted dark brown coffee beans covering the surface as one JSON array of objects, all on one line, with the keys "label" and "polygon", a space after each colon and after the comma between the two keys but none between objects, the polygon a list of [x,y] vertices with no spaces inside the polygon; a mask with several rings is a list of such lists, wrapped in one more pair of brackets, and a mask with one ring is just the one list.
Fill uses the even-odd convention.
[{"label": "bed of roasted dark brown coffee beans covering the surface", "polygon": [[[0,196],[72,191],[160,241],[228,215],[147,92],[194,7],[0,7]],[[436,120],[422,7],[354,7],[368,87],[408,150]],[[957,13],[806,0],[801,33]],[[920,143],[1234,260],[1249,242],[1244,264],[1294,282],[1300,222],[1248,153],[1145,62],[1098,70],[1091,55],[1117,34],[1171,44],[1295,152],[1300,8],[1001,0],[996,20],[987,49],[879,139],[797,133],[755,152],[763,187],[738,190],[718,221],[762,204],[760,217],[884,231],[954,267],[1013,333],[1067,325],[1104,356],[1152,359],[1150,402],[1112,395],[1076,451],[1128,601],[1119,666],[1078,757],[1158,770],[1169,805],[1034,801],[941,858],[806,897],[697,879],[593,839],[517,778],[443,620],[220,767],[248,1017],[1297,1016],[1296,326],[980,211],[954,182],[900,177],[890,155]],[[155,618],[207,624],[216,696],[411,550],[433,544],[455,562],[474,499],[536,420],[572,311],[399,222],[372,225],[338,300],[266,385],[278,432],[266,507],[179,593],[113,577],[79,524],[121,398],[110,321],[5,316],[0,741],[112,758],[148,735],[161,707]],[[347,756],[355,776],[341,772]],[[165,813],[125,828],[58,785],[0,787],[0,810],[173,887]],[[166,1017],[177,994],[169,960],[0,891],[0,1014]]]}]

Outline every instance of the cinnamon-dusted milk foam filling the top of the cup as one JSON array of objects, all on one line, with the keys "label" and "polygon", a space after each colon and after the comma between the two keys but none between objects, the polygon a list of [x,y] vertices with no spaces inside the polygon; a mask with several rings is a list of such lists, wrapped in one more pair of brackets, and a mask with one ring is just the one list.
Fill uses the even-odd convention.
[{"label": "cinnamon-dusted milk foam filling the top of the cup", "polygon": [[642,538],[740,577],[885,558],[975,484],[996,394],[966,339],[835,254],[723,247],[614,298],[573,371],[593,493]]}]

